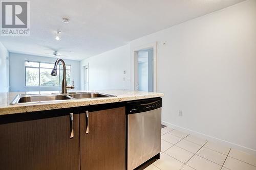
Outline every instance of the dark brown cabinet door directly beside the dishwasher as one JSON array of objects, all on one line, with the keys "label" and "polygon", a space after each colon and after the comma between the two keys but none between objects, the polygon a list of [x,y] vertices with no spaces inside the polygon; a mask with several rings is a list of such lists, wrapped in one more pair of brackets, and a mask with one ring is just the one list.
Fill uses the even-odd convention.
[{"label": "dark brown cabinet door directly beside the dishwasher", "polygon": [[125,107],[86,114],[79,114],[81,170],[125,169]]}]

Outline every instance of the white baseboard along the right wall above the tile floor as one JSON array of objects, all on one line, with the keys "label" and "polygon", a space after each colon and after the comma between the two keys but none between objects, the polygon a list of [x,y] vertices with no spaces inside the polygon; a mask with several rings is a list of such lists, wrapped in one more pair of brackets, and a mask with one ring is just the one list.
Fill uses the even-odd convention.
[{"label": "white baseboard along the right wall above the tile floor", "polygon": [[190,130],[190,129],[186,129],[186,128],[183,128],[183,127],[180,127],[180,126],[177,126],[177,125],[174,125],[174,124],[170,124],[168,122],[162,121],[162,124],[166,125],[167,127],[170,127],[170,128],[182,130],[182,131],[187,132],[189,134],[198,135],[202,138],[205,138],[205,139],[208,139],[208,140],[211,140],[211,141],[222,143],[223,145],[227,145],[228,147],[235,148],[235,149],[238,149],[240,151],[243,151],[243,152],[246,152],[248,154],[256,156],[256,150],[253,150],[251,148],[243,147],[239,144],[232,143],[232,142],[229,142],[229,141],[226,141],[226,140],[222,140],[222,139],[219,139],[219,138],[216,138],[216,137],[213,137],[213,136],[205,135],[205,134],[202,134],[202,133]]}]

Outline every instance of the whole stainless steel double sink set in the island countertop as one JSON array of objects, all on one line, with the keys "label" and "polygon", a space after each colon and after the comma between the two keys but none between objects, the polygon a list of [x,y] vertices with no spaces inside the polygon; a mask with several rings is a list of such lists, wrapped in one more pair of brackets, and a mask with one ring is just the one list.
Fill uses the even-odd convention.
[{"label": "whole stainless steel double sink set in the island countertop", "polygon": [[18,94],[10,104],[108,97],[115,97],[115,95],[98,92],[71,92],[67,94]]}]

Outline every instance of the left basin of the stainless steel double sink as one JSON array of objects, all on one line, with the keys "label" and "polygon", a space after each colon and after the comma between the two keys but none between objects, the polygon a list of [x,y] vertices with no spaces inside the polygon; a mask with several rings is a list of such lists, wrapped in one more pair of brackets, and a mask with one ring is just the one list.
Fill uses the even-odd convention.
[{"label": "left basin of the stainless steel double sink", "polygon": [[28,102],[42,102],[42,101],[57,101],[57,100],[71,100],[67,95],[17,95],[11,104],[15,103],[28,103]]}]

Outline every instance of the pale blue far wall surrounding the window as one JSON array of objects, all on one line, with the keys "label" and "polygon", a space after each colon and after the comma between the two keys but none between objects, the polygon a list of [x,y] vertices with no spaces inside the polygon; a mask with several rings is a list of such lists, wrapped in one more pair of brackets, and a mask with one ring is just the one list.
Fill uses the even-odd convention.
[{"label": "pale blue far wall surrounding the window", "polygon": [[[55,63],[56,58],[10,53],[10,91],[52,91],[61,87],[25,87],[25,60]],[[75,90],[80,90],[80,61],[65,60],[71,65]]]}]

